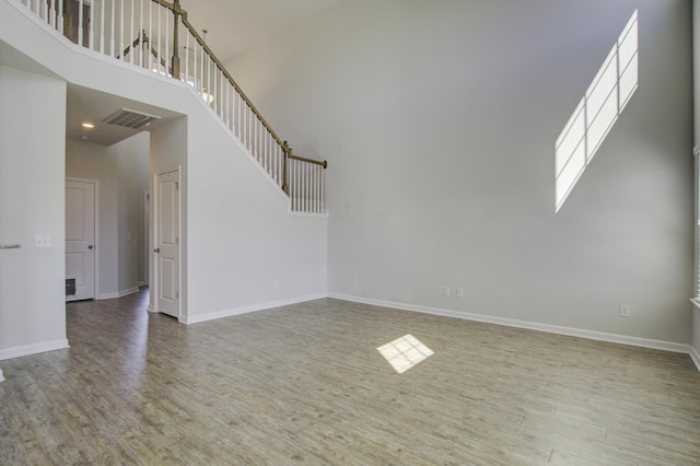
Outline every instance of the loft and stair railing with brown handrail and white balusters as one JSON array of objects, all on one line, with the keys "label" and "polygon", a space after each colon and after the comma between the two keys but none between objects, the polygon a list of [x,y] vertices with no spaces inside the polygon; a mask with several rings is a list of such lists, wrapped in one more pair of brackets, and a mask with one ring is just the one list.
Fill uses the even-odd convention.
[{"label": "loft and stair railing with brown handrail and white balusters", "polygon": [[16,0],[68,39],[179,79],[221,118],[294,212],[322,213],[326,161],[293,154],[190,24],[179,0]]}]

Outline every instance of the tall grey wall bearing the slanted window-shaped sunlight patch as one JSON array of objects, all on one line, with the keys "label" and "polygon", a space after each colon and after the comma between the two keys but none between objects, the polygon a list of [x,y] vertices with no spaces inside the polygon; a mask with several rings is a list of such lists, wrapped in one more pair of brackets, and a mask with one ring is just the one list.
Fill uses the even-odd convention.
[{"label": "tall grey wall bearing the slanted window-shaped sunlight patch", "polygon": [[[639,91],[555,214],[555,139],[634,9]],[[358,0],[229,69],[329,160],[334,295],[682,347],[690,26],[684,0]]]}]

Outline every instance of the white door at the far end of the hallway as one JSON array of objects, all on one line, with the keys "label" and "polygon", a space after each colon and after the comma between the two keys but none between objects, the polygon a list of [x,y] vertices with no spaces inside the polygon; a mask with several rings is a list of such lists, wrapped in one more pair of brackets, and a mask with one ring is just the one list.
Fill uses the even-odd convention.
[{"label": "white door at the far end of the hallway", "polygon": [[95,298],[95,183],[66,180],[66,278],[75,294],[66,301]]}]

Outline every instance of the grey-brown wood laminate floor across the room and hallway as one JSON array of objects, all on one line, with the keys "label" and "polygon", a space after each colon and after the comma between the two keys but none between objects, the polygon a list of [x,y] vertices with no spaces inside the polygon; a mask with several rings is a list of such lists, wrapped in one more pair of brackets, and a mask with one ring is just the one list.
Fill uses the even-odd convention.
[{"label": "grey-brown wood laminate floor across the room and hallway", "polygon": [[[699,465],[687,354],[330,299],[185,326],[68,304],[0,362],[0,464]],[[397,374],[376,350],[434,351]]]}]

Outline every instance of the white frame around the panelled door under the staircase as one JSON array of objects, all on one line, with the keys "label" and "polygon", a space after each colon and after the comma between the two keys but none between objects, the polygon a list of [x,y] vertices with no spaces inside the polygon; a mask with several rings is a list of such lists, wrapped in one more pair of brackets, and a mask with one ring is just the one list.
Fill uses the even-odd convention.
[{"label": "white frame around the panelled door under the staircase", "polygon": [[[150,264],[150,277],[149,277],[149,291],[150,291],[150,304],[148,307],[149,312],[160,312],[158,308],[158,296],[160,293],[160,277],[158,273],[158,257],[156,254],[154,253],[154,248],[158,247],[158,237],[159,237],[159,215],[160,215],[160,209],[159,209],[159,202],[161,201],[160,197],[159,197],[159,176],[161,175],[166,175],[166,174],[172,174],[177,172],[177,183],[179,186],[183,186],[183,171],[182,171],[182,165],[175,165],[175,166],[171,166],[168,168],[164,168],[164,170],[158,170],[155,172],[153,172],[153,177],[152,177],[152,187],[151,187],[151,194],[150,194],[150,198],[151,198],[151,221],[150,221],[150,230],[151,230],[151,242],[149,244],[149,254],[150,254],[150,259],[149,259],[149,264]],[[177,319],[179,322],[183,322],[183,196],[182,196],[182,189],[177,189],[177,237],[178,237],[178,242],[177,242],[177,292],[178,292],[178,298],[177,298]]]}]

